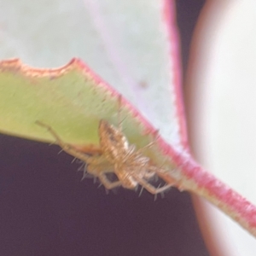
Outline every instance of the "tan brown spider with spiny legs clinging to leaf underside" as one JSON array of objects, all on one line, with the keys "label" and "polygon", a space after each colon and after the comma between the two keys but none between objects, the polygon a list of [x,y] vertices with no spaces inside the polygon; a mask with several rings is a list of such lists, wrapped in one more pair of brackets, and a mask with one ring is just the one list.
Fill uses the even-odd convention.
[{"label": "tan brown spider with spiny legs clinging to leaf underside", "polygon": [[[119,97],[119,109],[120,105],[121,97]],[[98,155],[85,154],[73,145],[64,143],[49,125],[45,125],[40,121],[36,123],[46,128],[55,137],[56,143],[67,154],[71,154],[75,158],[84,161],[87,166],[87,172],[98,177],[106,189],[113,189],[119,186],[125,189],[137,189],[137,186],[141,185],[149,193],[156,195],[172,186],[172,184],[167,184],[161,188],[155,188],[152,184],[148,183],[148,179],[154,177],[160,168],[150,163],[150,159],[143,155],[143,150],[151,147],[155,141],[136,150],[135,145],[129,145],[127,138],[122,132],[121,122],[119,122],[118,127],[115,127],[110,125],[105,119],[100,120],[98,132],[102,154]],[[118,177],[118,181],[109,181],[106,176],[109,172],[114,173]]]}]

